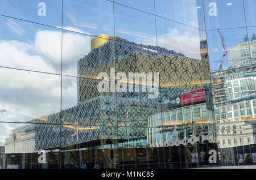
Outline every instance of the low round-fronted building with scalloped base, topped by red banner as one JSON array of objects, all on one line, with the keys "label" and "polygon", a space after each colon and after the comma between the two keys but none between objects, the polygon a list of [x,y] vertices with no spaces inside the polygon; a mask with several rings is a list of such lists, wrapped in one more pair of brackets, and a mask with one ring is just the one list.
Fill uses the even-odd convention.
[{"label": "low round-fronted building with scalloped base, topped by red banner", "polygon": [[160,104],[158,110],[148,118],[150,147],[216,142],[213,113],[205,103],[205,91],[171,98]]}]

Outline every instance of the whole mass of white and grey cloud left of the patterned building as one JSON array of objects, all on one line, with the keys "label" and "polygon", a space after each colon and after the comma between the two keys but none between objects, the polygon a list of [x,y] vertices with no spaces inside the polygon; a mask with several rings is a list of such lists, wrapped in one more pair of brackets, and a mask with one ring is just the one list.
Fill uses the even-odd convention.
[{"label": "whole mass of white and grey cloud left of the patterned building", "polygon": [[[71,31],[82,32],[68,27]],[[77,74],[77,61],[90,52],[90,36],[63,31],[63,72]],[[61,31],[38,30],[33,40],[0,40],[0,65],[24,70],[60,73]],[[1,121],[26,122],[60,112],[60,76],[40,72],[1,68]],[[63,83],[65,108],[77,103],[76,78]],[[13,123],[0,123],[0,144],[16,128]],[[19,124],[19,126],[21,126]],[[18,126],[17,126],[18,127]]]}]

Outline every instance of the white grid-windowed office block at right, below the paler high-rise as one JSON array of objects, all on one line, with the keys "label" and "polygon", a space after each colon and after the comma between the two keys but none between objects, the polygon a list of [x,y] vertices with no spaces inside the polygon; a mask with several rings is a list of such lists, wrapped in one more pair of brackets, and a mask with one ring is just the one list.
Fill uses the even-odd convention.
[{"label": "white grid-windowed office block at right, below the paler high-rise", "polygon": [[256,64],[212,72],[214,114],[217,123],[255,118]]}]

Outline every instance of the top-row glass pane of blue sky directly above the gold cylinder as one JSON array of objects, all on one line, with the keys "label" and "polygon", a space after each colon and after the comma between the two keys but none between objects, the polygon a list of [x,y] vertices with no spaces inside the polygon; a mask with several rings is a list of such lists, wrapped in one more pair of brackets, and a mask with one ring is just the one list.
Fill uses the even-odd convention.
[{"label": "top-row glass pane of blue sky directly above the gold cylinder", "polygon": [[113,2],[63,1],[63,28],[88,35],[114,35]]}]

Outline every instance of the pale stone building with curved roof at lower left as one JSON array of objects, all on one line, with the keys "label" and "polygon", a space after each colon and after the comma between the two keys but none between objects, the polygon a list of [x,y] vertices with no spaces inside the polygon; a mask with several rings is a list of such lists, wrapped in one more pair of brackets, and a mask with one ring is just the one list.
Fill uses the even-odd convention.
[{"label": "pale stone building with curved roof at lower left", "polygon": [[35,151],[35,125],[18,127],[5,140],[5,153],[31,153]]}]

